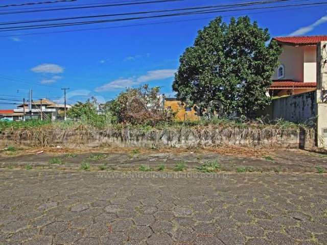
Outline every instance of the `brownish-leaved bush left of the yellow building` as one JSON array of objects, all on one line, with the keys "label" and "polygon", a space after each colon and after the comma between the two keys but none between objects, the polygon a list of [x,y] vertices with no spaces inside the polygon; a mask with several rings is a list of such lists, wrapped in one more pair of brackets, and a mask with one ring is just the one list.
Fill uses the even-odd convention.
[{"label": "brownish-leaved bush left of the yellow building", "polygon": [[118,122],[131,125],[156,125],[172,121],[174,115],[162,109],[159,87],[144,85],[121,92],[109,105],[109,111]]}]

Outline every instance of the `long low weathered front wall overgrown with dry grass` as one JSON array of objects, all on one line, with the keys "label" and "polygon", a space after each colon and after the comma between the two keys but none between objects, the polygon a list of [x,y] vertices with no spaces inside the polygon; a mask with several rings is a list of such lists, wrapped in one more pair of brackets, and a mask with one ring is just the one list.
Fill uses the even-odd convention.
[{"label": "long low weathered front wall overgrown with dry grass", "polygon": [[0,146],[56,146],[68,148],[101,145],[146,148],[188,148],[192,146],[238,145],[256,148],[312,148],[312,130],[217,129],[217,130],[105,130],[105,131],[7,131],[0,134]]}]

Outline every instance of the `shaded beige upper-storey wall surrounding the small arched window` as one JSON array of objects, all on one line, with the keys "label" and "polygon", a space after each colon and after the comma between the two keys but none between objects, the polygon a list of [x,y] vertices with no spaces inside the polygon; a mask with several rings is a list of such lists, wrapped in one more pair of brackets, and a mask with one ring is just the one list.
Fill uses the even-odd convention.
[{"label": "shaded beige upper-storey wall surrounding the small arched window", "polygon": [[[303,47],[282,45],[283,53],[279,56],[279,63],[285,67],[285,79],[303,82]],[[275,69],[273,80],[278,79],[277,68]]]}]

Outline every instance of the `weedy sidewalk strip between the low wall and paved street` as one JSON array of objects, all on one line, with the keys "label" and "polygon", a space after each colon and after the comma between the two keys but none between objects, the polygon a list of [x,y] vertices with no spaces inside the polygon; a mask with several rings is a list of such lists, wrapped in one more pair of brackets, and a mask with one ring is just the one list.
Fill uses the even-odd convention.
[{"label": "weedy sidewalk strip between the low wall and paved street", "polygon": [[[60,159],[60,164],[51,161]],[[140,153],[84,153],[84,154],[59,154],[44,152],[42,154],[27,154],[21,156],[0,157],[0,167],[24,167],[27,164],[33,167],[79,169],[82,162],[90,164],[91,168],[98,170],[100,165],[108,169],[136,170],[142,164],[149,165],[155,169],[161,164],[172,169],[176,163],[184,162],[189,170],[203,164],[208,160],[217,160],[221,170],[236,171],[239,167],[252,167],[256,171],[279,171],[297,173],[317,173],[317,166],[327,171],[327,155],[316,154],[300,150],[278,150],[269,151],[261,156],[226,156],[215,152],[163,152],[156,151]]]}]

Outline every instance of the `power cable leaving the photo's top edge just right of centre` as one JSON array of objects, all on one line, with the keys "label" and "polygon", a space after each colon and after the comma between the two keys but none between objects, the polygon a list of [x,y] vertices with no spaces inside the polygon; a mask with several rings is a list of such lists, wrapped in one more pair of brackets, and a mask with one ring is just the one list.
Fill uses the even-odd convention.
[{"label": "power cable leaving the photo's top edge just right of centre", "polygon": [[143,4],[157,4],[157,3],[167,3],[167,2],[180,2],[184,0],[157,0],[157,1],[138,1],[130,3],[121,3],[121,4],[103,4],[97,6],[83,6],[83,7],[69,7],[69,8],[55,8],[55,9],[43,9],[43,10],[29,10],[29,11],[12,11],[4,12],[0,14],[21,14],[21,13],[36,13],[36,12],[45,12],[45,11],[60,11],[60,10],[72,10],[72,9],[89,9],[89,8],[104,8],[104,7],[117,7],[117,6],[130,6],[130,5],[143,5]]}]

